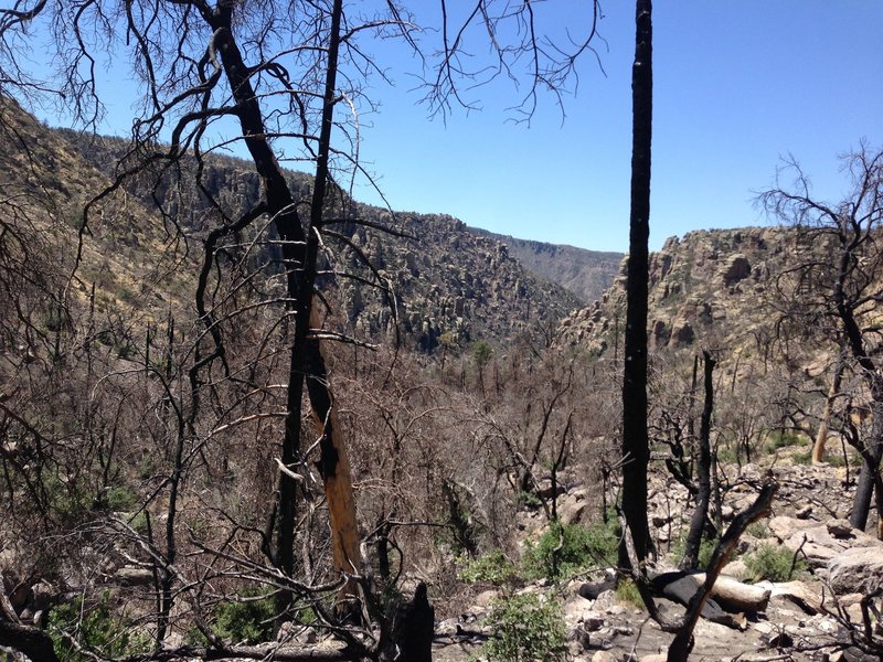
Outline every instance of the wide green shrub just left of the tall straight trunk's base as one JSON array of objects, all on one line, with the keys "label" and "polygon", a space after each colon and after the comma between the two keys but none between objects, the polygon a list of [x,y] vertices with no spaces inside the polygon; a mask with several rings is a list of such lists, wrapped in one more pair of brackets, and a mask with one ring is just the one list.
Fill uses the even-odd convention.
[{"label": "wide green shrub just left of the tall straight trunk's base", "polygon": [[554,521],[535,545],[528,546],[524,574],[532,579],[545,577],[555,580],[593,566],[613,565],[618,543],[615,524],[564,526]]}]

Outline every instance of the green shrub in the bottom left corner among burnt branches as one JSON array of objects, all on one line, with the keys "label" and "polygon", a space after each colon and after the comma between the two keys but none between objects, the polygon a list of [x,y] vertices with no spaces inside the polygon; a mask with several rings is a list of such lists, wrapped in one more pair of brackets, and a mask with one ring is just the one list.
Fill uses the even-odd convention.
[{"label": "green shrub in the bottom left corner among burnt branches", "polygon": [[151,647],[149,637],[132,632],[126,620],[110,616],[109,591],[105,591],[95,606],[84,608],[83,599],[76,598],[55,607],[49,616],[49,633],[55,654],[65,662],[93,660],[77,652],[67,637],[75,639],[85,651],[102,658],[148,652]]}]

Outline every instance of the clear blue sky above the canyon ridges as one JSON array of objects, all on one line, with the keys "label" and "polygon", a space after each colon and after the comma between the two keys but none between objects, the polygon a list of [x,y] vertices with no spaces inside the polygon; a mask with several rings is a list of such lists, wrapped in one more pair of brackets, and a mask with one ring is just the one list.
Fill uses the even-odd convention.
[{"label": "clear blue sky above the canyon ridges", "polygon": [[[465,7],[465,0],[449,0]],[[432,23],[436,2],[412,2]],[[358,3],[357,3],[358,6]],[[578,29],[579,0],[533,0],[560,30]],[[604,2],[597,43],[565,98],[545,97],[530,127],[509,121],[519,92],[469,93],[482,110],[427,119],[411,90],[417,64],[376,45],[397,82],[370,83],[379,111],[362,117],[361,157],[395,210],[447,213],[518,237],[599,250],[628,242],[634,2]],[[764,222],[753,205],[783,156],[812,175],[820,197],[844,192],[837,156],[861,139],[883,146],[880,0],[658,1],[655,6],[651,247],[703,227]],[[426,32],[432,50],[438,35]],[[477,55],[483,53],[472,46]],[[117,87],[119,83],[115,83]],[[111,99],[113,102],[113,99]],[[130,126],[116,100],[107,130]],[[45,116],[45,114],[44,114]],[[52,121],[52,120],[51,120]],[[53,122],[54,124],[54,122]],[[379,199],[368,186],[357,197]]]}]

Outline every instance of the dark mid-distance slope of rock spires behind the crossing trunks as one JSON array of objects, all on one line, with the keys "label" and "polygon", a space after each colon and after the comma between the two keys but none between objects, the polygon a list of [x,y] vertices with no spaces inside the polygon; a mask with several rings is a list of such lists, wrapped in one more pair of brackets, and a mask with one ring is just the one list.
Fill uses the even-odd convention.
[{"label": "dark mid-distance slope of rock spires behind the crossing trunks", "polygon": [[[115,138],[73,131],[54,136],[106,172],[116,169],[127,149]],[[288,177],[296,195],[306,199],[310,179],[295,172]],[[192,181],[184,180],[182,190],[170,185],[169,178],[156,186],[139,183],[130,193],[145,206],[161,205],[190,235],[217,222]],[[259,199],[258,178],[245,161],[209,159],[203,184],[231,217]],[[504,244],[469,232],[450,216],[392,213],[342,194],[332,211],[344,221],[329,233],[326,267],[348,276],[326,277],[323,287],[337,299],[341,329],[354,329],[362,338],[391,338],[397,320],[407,342],[426,352],[435,350],[443,337],[447,344],[460,346],[478,339],[502,344],[540,325],[556,324],[581,305],[560,285],[525,269]],[[372,288],[368,281],[381,287]]]}]

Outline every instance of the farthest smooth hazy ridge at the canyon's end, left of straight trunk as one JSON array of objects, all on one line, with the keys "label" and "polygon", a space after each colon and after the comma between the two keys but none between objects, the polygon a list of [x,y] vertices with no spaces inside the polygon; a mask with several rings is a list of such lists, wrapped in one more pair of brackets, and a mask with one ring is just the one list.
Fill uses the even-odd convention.
[{"label": "farthest smooth hazy ridge at the canyon's end, left of straight trunk", "polygon": [[621,253],[586,250],[575,246],[518,239],[470,228],[506,244],[509,253],[538,276],[564,286],[585,302],[599,299],[619,271]]}]

